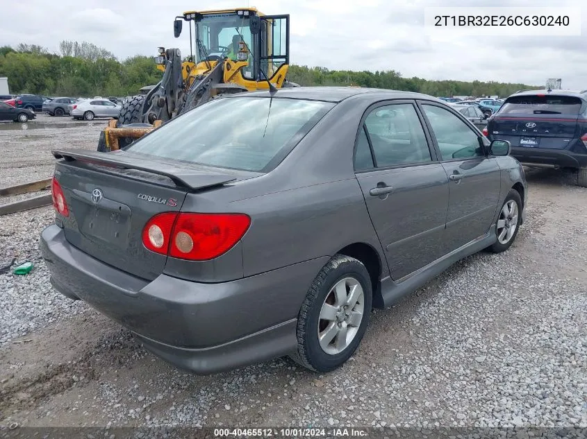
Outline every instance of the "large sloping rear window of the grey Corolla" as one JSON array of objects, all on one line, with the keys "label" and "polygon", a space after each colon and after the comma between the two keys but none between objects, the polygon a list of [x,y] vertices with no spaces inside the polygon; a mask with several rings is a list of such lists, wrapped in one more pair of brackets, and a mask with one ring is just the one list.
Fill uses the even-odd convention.
[{"label": "large sloping rear window of the grey Corolla", "polygon": [[288,98],[218,99],[142,137],[126,150],[244,171],[269,171],[334,104]]}]

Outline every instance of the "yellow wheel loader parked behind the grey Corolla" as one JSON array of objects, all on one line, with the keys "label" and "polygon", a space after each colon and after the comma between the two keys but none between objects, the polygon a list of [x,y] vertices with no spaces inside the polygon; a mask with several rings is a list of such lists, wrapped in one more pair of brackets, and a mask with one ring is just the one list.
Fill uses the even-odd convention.
[{"label": "yellow wheel loader parked behind the grey Corolla", "polygon": [[[177,38],[187,22],[190,55],[158,49],[160,82],[122,102],[119,118],[100,134],[98,150],[123,148],[162,123],[217,96],[297,87],[286,80],[290,62],[289,15],[256,8],[188,11],[174,20]],[[185,33],[184,33],[185,35]]]}]

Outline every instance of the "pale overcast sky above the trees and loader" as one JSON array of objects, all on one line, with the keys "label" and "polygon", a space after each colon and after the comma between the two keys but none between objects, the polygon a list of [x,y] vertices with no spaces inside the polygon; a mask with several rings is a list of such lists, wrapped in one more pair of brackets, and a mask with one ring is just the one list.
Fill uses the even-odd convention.
[{"label": "pale overcast sky above the trees and loader", "polygon": [[[124,59],[156,55],[157,46],[189,52],[188,33],[173,37],[185,10],[255,6],[290,14],[292,64],[388,70],[427,79],[496,80],[587,89],[587,2],[581,36],[439,37],[424,32],[426,6],[581,6],[584,0],[27,0],[3,6],[0,45],[88,41]],[[164,3],[165,6],[162,6]],[[187,31],[187,28],[185,29]]]}]

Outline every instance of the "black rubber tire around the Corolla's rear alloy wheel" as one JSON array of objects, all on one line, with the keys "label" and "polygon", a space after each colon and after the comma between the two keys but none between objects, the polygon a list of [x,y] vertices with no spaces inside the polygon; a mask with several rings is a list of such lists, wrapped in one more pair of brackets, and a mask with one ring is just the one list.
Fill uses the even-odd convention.
[{"label": "black rubber tire around the Corolla's rear alloy wheel", "polygon": [[[363,288],[363,317],[352,341],[337,354],[328,354],[320,346],[317,334],[320,311],[331,289],[342,279],[355,279]],[[372,306],[371,278],[367,268],[353,257],[335,255],[312,282],[297,318],[297,352],[290,357],[305,368],[316,372],[334,370],[355,352],[363,339]],[[335,328],[336,329],[336,328]]]}]

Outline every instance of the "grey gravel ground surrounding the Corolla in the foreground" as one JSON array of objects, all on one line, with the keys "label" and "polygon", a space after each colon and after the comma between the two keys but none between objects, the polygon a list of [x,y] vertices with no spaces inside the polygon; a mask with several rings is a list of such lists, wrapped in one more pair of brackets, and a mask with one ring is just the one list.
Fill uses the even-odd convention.
[{"label": "grey gravel ground surrounding the Corolla in the foreground", "polygon": [[1,248],[36,266],[0,275],[0,425],[587,428],[587,189],[554,171],[528,178],[510,250],[374,312],[358,352],[326,375],[288,359],[177,370],[53,293],[37,249],[51,209],[0,217]]}]

